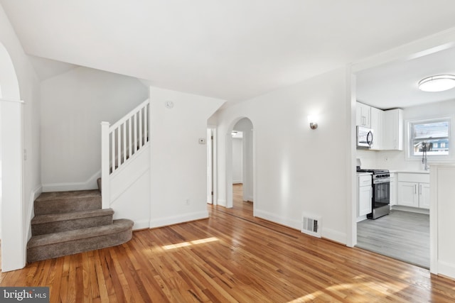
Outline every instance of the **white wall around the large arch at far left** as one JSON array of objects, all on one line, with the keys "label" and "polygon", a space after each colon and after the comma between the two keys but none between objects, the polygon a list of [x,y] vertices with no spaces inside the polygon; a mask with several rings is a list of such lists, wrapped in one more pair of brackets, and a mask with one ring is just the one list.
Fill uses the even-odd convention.
[{"label": "white wall around the large arch at far left", "polygon": [[[3,271],[22,268],[25,265],[26,241],[30,235],[30,219],[33,214],[33,201],[41,192],[41,166],[40,166],[40,99],[38,94],[38,77],[33,70],[28,56],[23,52],[21,43],[18,41],[14,29],[0,6],[0,42],[4,45],[17,75],[20,99],[25,101],[22,105],[21,143],[22,150],[18,150],[19,158],[22,159],[22,184],[18,184],[22,200],[3,201],[3,203],[21,204],[18,212],[14,214],[2,214],[2,224],[9,226],[9,231],[19,239],[20,245],[12,246],[2,241]],[[3,68],[3,66],[2,66]],[[5,87],[2,88],[4,97],[13,96]],[[23,158],[26,151],[26,158]],[[19,228],[14,228],[21,224]],[[5,233],[6,231],[3,231]],[[6,251],[8,253],[6,253]],[[11,258],[9,258],[11,256]]]}]

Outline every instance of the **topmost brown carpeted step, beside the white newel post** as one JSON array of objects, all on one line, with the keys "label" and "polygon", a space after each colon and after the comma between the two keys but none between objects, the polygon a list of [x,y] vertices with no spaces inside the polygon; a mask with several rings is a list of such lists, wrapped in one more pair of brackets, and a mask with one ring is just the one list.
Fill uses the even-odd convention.
[{"label": "topmost brown carpeted step, beside the white newel post", "polygon": [[34,205],[35,215],[61,214],[71,211],[101,209],[101,192],[97,189],[70,192],[43,192]]}]

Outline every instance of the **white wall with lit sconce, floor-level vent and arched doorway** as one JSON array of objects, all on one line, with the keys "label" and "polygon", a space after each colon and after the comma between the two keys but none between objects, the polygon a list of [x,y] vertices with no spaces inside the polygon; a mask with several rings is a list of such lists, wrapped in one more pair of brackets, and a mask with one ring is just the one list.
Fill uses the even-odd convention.
[{"label": "white wall with lit sconce, floor-level vent and arched doorway", "polygon": [[[219,204],[226,191],[225,140],[242,117],[255,132],[255,215],[301,228],[301,214],[322,217],[322,236],[346,243],[351,180],[350,97],[345,68],[307,79],[218,113]],[[311,130],[307,116],[317,114]]]}]

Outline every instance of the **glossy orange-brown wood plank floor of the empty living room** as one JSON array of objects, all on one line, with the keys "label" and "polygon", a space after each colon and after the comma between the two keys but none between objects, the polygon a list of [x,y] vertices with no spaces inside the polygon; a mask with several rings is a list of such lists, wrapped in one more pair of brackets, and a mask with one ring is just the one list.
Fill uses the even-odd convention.
[{"label": "glossy orange-brown wood plank floor of the empty living room", "polygon": [[209,205],[210,219],[31,263],[0,286],[49,286],[50,302],[77,303],[455,301],[454,280],[254,218],[252,205]]}]

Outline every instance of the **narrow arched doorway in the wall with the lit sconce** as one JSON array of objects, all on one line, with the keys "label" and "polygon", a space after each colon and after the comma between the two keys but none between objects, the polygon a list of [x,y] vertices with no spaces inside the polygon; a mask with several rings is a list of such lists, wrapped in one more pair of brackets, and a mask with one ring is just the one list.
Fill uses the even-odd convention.
[{"label": "narrow arched doorway in the wall with the lit sconce", "polygon": [[[241,138],[239,137],[240,133],[242,133]],[[234,167],[235,163],[240,167]],[[231,123],[226,134],[226,207],[232,207],[233,183],[242,183],[244,201],[255,202],[256,179],[254,172],[255,140],[253,124],[250,119],[241,117]],[[255,209],[255,204],[253,209]]]}]

